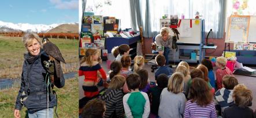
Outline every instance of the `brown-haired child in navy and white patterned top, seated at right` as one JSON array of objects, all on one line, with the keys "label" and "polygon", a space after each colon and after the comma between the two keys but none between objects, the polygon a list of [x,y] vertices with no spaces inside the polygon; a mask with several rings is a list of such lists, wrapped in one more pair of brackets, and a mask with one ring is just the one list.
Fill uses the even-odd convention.
[{"label": "brown-haired child in navy and white patterned top, seated at right", "polygon": [[[231,75],[225,75],[222,78],[222,88],[219,89],[214,96],[214,102],[217,106],[221,108],[221,114],[224,112],[225,108],[228,108],[233,104],[233,88],[238,85],[238,79]],[[217,107],[216,107],[217,108]]]}]

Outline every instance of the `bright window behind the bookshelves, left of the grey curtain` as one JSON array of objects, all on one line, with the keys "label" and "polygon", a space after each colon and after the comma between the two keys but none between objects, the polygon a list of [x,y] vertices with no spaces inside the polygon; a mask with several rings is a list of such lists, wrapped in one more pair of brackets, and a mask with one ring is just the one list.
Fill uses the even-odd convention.
[{"label": "bright window behind the bookshelves, left of the grey curtain", "polygon": [[125,29],[131,28],[129,7],[129,0],[89,0],[86,3],[86,12],[94,12],[95,15],[121,19],[121,29]]}]

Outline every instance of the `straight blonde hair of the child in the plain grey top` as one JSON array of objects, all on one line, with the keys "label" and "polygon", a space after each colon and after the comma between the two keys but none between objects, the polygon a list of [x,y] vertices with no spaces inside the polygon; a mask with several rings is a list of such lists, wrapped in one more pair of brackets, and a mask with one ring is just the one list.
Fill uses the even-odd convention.
[{"label": "straight blonde hair of the child in the plain grey top", "polygon": [[183,91],[184,75],[181,73],[174,73],[169,78],[167,90],[172,93],[180,93]]}]

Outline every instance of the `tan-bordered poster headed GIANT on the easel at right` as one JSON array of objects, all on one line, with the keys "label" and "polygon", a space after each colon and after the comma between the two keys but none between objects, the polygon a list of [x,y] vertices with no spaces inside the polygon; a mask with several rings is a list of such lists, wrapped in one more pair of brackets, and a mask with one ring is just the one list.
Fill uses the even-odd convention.
[{"label": "tan-bordered poster headed GIANT on the easel at right", "polygon": [[248,43],[250,16],[231,16],[225,42]]}]

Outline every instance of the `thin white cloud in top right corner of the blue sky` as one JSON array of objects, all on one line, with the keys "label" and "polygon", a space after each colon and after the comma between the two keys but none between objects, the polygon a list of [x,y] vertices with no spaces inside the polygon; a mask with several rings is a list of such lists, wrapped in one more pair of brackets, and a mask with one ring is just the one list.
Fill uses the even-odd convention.
[{"label": "thin white cloud in top right corner of the blue sky", "polygon": [[78,9],[78,0],[61,1],[61,0],[50,0],[57,9]]}]

